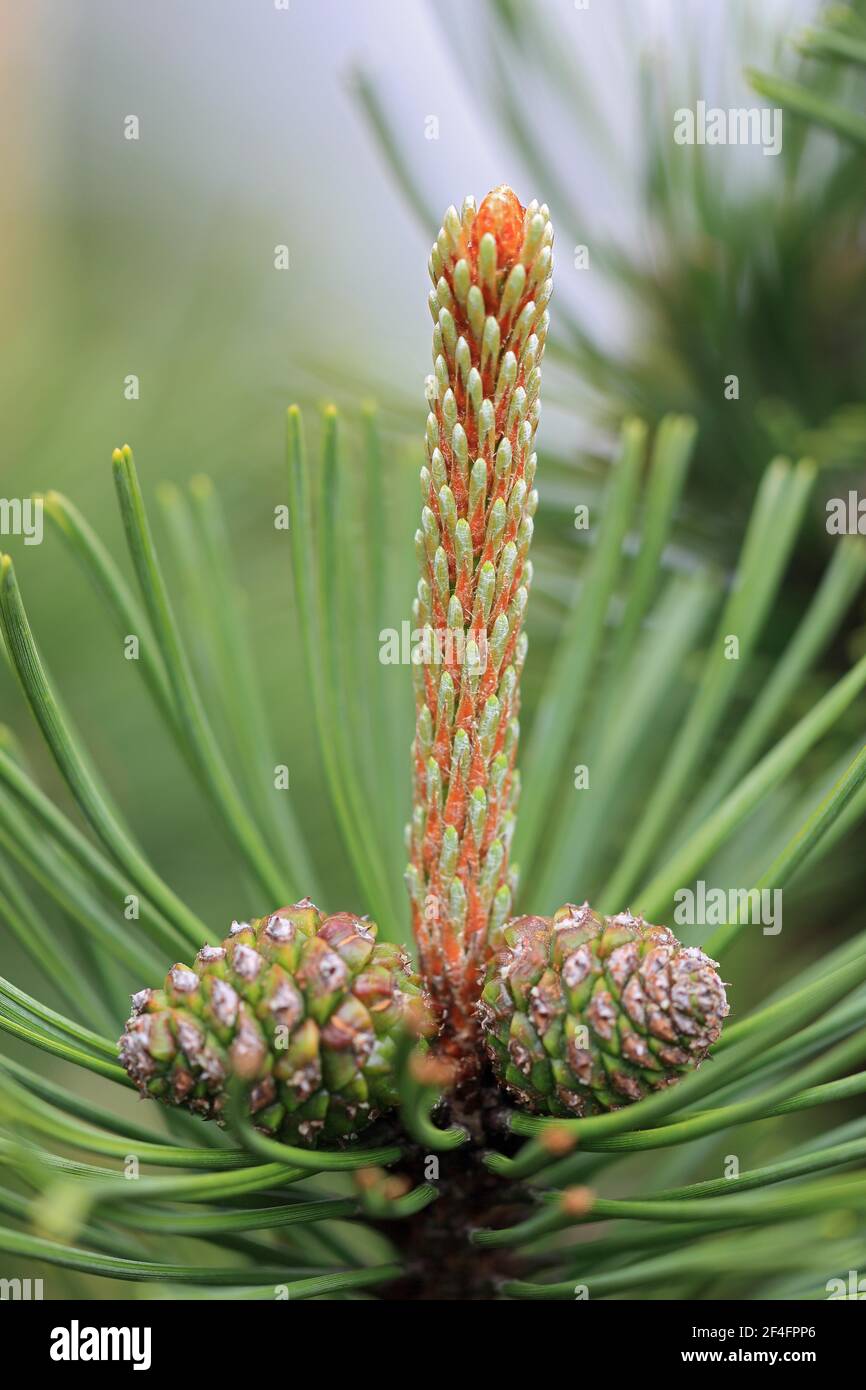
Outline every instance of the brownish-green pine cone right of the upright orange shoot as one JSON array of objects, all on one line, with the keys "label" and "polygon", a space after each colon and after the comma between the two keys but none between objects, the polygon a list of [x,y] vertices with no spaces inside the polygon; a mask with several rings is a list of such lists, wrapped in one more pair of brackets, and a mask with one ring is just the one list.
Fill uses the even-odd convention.
[{"label": "brownish-green pine cone right of the upright orange shoot", "polygon": [[701,1065],[728,1012],[716,963],[667,927],[567,903],[517,917],[478,1005],[499,1080],[542,1115],[639,1101]]}]

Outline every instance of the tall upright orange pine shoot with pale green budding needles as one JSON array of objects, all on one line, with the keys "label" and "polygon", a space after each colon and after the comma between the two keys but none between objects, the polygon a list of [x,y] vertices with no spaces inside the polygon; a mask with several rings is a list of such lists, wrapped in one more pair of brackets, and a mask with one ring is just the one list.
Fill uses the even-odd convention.
[{"label": "tall upright orange pine shoot with pale green budding needles", "polygon": [[512,909],[521,623],[537,493],[532,439],[550,297],[546,207],[509,188],[449,207],[430,260],[434,375],[416,532],[407,883],[443,1045],[471,1069],[474,1006]]}]

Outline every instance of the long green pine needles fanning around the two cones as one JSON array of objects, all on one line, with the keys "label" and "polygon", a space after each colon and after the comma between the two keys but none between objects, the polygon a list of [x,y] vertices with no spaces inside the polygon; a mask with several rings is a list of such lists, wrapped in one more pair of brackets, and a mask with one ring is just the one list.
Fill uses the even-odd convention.
[{"label": "long green pine needles fanning around the two cones", "polygon": [[[327,411],[310,461],[300,413],[289,411],[293,600],[339,852],[382,935],[399,940],[399,815],[393,792],[381,794],[381,770],[407,760],[392,710],[403,698],[410,706],[409,691],[395,685],[409,677],[370,653],[371,634],[391,616],[395,546],[381,524],[373,413],[361,434],[361,466],[342,467],[349,441]],[[817,945],[802,969],[783,963],[794,960],[795,905],[813,915],[833,903],[837,866],[866,815],[866,746],[856,727],[866,656],[841,678],[822,680],[820,696],[802,709],[809,678],[862,595],[866,549],[856,538],[838,542],[812,603],[770,656],[766,638],[802,538],[815,466],[776,459],[767,467],[726,580],[699,564],[671,564],[694,448],[694,424],[683,417],[666,418],[652,439],[639,421],[623,428],[595,543],[534,702],[516,847],[521,892],[545,910],[580,894],[602,910],[630,901],[651,920],[670,920],[677,888],[706,874],[784,890],[787,924],[780,937],[762,938],[730,922],[702,942],[733,981],[733,1015],[699,1072],[589,1119],[512,1113],[512,1141],[480,1159],[503,1190],[521,1184],[528,1215],[455,1237],[474,1247],[481,1269],[499,1247],[510,1251],[514,1276],[492,1295],[571,1300],[585,1289],[589,1297],[822,1298],[830,1277],[866,1259],[866,1120],[847,1120],[844,1106],[866,1091],[866,930]],[[213,639],[211,671],[221,673],[206,685],[128,448],[113,467],[136,589],[58,493],[44,498],[57,532],[47,541],[65,542],[118,632],[140,635],[138,669],[154,708],[264,910],[316,894],[325,866],[291,798],[263,794],[274,748],[217,495],[197,480],[189,495],[163,498],[168,546],[206,578],[200,594],[210,609],[199,617]],[[346,542],[359,525],[364,562],[348,569]],[[51,685],[8,557],[0,626],[81,812],[72,819],[40,790],[4,733],[0,916],[56,1001],[0,983],[0,1027],[36,1049],[13,1045],[0,1062],[0,1250],[10,1268],[47,1268],[54,1297],[79,1290],[78,1276],[100,1276],[83,1286],[95,1297],[121,1297],[122,1280],[145,1297],[386,1295],[406,1272],[399,1225],[425,1211],[435,1220],[449,1163],[470,1143],[460,1127],[442,1127],[435,1076],[413,1063],[407,1047],[398,1120],[334,1152],[277,1144],[235,1111],[220,1130],[126,1104],[117,1037],[129,991],[218,941],[227,924],[200,920],[140,849]],[[738,660],[726,656],[730,634]],[[364,739],[353,737],[359,708]],[[591,795],[573,787],[575,756],[592,769]],[[57,929],[32,887],[53,899]],[[122,912],[129,902],[132,922]],[[752,959],[783,983],[744,1006],[755,988],[745,979]],[[801,1112],[815,1122],[806,1138],[796,1129]],[[409,1151],[436,1161],[414,1186],[405,1176]],[[742,1158],[735,1179],[723,1163],[731,1154]],[[58,1284],[58,1269],[74,1273]],[[431,1270],[434,1290],[435,1280]]]}]

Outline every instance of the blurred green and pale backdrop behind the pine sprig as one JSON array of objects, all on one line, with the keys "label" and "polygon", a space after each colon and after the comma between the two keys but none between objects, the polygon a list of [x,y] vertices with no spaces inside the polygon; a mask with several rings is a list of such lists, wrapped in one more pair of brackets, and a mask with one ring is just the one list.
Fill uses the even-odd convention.
[{"label": "blurred green and pale backdrop behind the pine sprig", "polygon": [[[862,4],[849,10],[863,18]],[[809,455],[820,466],[765,635],[765,666],[738,694],[735,727],[830,556],[824,499],[862,485],[866,179],[862,152],[796,117],[785,115],[783,152],[770,158],[755,146],[677,146],[671,115],[698,96],[723,107],[765,104],[751,70],[863,111],[858,71],[816,63],[795,42],[819,14],[812,0],[6,7],[0,493],[64,492],[129,574],[111,449],[135,448],[161,546],[160,488],[214,478],[275,755],[289,767],[292,806],[329,910],[366,905],[332,849],[288,548],[272,524],[286,502],[285,407],[304,406],[316,439],[316,410],[339,404],[341,468],[350,477],[363,403],[378,402],[386,606],[399,627],[414,587],[431,242],[445,207],[466,193],[481,199],[509,182],[524,202],[548,202],[557,281],[527,723],[585,557],[574,506],[599,499],[623,417],[637,413],[652,427],[681,411],[696,418],[699,435],[673,569],[710,560],[723,584],[773,455]],[[138,139],[126,138],[131,117]],[[275,267],[278,247],[288,249],[286,270]],[[738,400],[724,396],[730,374]],[[46,524],[42,546],[4,545],[56,685],[160,873],[217,927],[272,908],[250,902],[135,663],[57,535]],[[349,574],[363,546],[363,527],[350,525]],[[167,562],[167,570],[207,680],[195,584],[182,564]],[[791,719],[865,646],[860,600]],[[379,680],[389,682],[395,737],[406,748],[403,780],[389,790],[405,816],[410,680],[403,667],[384,669]],[[3,660],[0,723],[70,809]],[[833,734],[830,763],[858,734],[862,716],[852,710]],[[810,774],[806,760],[806,783]],[[398,819],[395,859],[400,828]],[[862,926],[851,841],[833,874],[833,920],[813,922],[808,888],[798,910],[841,940]],[[815,955],[809,930],[795,940],[794,954]],[[3,973],[44,994],[8,942]],[[766,980],[744,988],[759,986]]]}]

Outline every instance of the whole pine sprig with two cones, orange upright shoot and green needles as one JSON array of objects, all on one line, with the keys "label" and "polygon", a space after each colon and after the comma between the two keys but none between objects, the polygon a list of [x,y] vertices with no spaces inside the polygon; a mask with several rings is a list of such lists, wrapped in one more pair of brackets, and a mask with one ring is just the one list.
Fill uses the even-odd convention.
[{"label": "whole pine sprig with two cones, orange upright shoot and green needles", "polygon": [[[538,243],[524,257],[539,225]],[[745,742],[721,739],[721,759],[708,783],[703,774],[713,766],[719,735],[731,728],[734,687],[712,651],[703,664],[698,660],[695,644],[721,607],[723,587],[709,573],[676,573],[664,582],[663,563],[683,455],[691,448],[688,421],[659,430],[646,489],[645,431],[634,423],[626,427],[627,448],[602,506],[592,562],[582,571],[582,598],[539,682],[535,746],[525,759],[531,795],[518,845],[538,880],[530,898],[541,906],[560,878],[569,894],[582,897],[587,888],[595,897],[603,878],[620,872],[630,824],[641,824],[634,810],[652,805],[659,763],[670,762],[659,728],[671,728],[678,821],[659,828],[651,820],[638,831],[645,841],[642,867],[632,863],[630,874],[648,883],[635,908],[648,910],[656,901],[657,915],[669,917],[677,884],[719,865],[748,874],[745,881],[759,888],[785,891],[808,866],[799,883],[808,877],[808,891],[823,909],[820,948],[794,979],[784,967],[781,988],[756,1006],[738,992],[737,1017],[720,1033],[726,1002],[714,966],[666,930],[623,912],[607,919],[587,906],[566,906],[552,919],[503,922],[510,916],[520,620],[534,510],[530,450],[549,245],[546,213],[524,211],[499,190],[475,217],[470,204],[463,217],[446,215],[431,263],[436,374],[417,609],[431,651],[417,669],[420,795],[410,881],[450,1055],[418,1044],[413,1026],[396,1026],[403,1012],[407,1023],[416,1019],[423,998],[421,983],[393,944],[391,860],[379,844],[379,831],[384,842],[392,828],[393,788],[382,783],[407,734],[398,731],[396,705],[374,708],[375,699],[364,699],[356,681],[370,656],[359,592],[368,585],[370,612],[377,614],[371,628],[379,631],[386,621],[382,560],[389,537],[382,527],[378,557],[364,552],[371,573],[353,564],[349,589],[338,562],[354,532],[343,531],[349,507],[336,496],[334,410],[322,428],[320,488],[309,486],[300,416],[289,411],[297,605],[306,660],[314,664],[310,703],[317,706],[324,753],[322,790],[331,794],[360,903],[374,910],[381,905],[386,915],[385,940],[374,940],[368,919],[322,916],[307,902],[235,924],[222,947],[209,944],[195,966],[170,970],[164,990],[138,995],[122,1044],[133,1076],[114,1061],[118,986],[122,992],[125,983],[164,977],[168,962],[189,959],[189,942],[200,945],[209,931],[174,897],[106,795],[42,664],[11,563],[0,557],[0,630],[11,664],[95,831],[89,838],[86,826],[79,828],[53,805],[32,780],[17,741],[0,728],[0,919],[53,987],[50,1002],[43,1002],[43,990],[29,994],[0,979],[0,1033],[44,1052],[51,1069],[58,1061],[78,1066],[85,1083],[83,1090],[70,1086],[65,1070],[58,1081],[42,1076],[39,1058],[33,1068],[0,1062],[0,1169],[10,1180],[0,1187],[0,1259],[8,1257],[17,1268],[25,1257],[50,1266],[51,1297],[57,1289],[75,1291],[61,1283],[63,1270],[72,1279],[117,1280],[115,1295],[120,1282],[131,1280],[142,1286],[142,1297],[200,1300],[227,1293],[270,1301],[359,1291],[370,1297],[378,1286],[389,1286],[385,1297],[392,1298],[573,1300],[578,1282],[592,1298],[657,1293],[660,1283],[670,1297],[824,1297],[828,1275],[862,1268],[866,1122],[853,1119],[827,1134],[824,1116],[827,1106],[866,1093],[866,931],[830,949],[823,927],[835,927],[824,897],[844,865],[833,856],[834,845],[866,815],[866,749],[855,717],[866,657],[833,688],[824,681],[815,698],[803,680],[860,592],[865,562],[856,552],[859,538],[849,538],[833,562],[824,598],[816,599],[781,660],[767,663],[753,721],[744,726]],[[514,281],[518,267],[523,278],[518,272]],[[126,450],[115,467],[124,473],[121,502],[129,520],[138,484]],[[367,434],[370,482],[381,484],[381,468]],[[719,628],[741,638],[745,632],[755,657],[759,619],[769,616],[805,518],[810,468],[777,463],[769,470],[744,552],[749,563],[734,584],[737,621],[726,617]],[[386,477],[391,486],[396,470]],[[378,524],[375,485],[368,496],[367,523]],[[172,506],[179,535],[177,499],[170,513]],[[57,512],[63,531],[68,505],[49,493],[46,507]],[[135,513],[129,541],[140,578],[142,546],[152,559],[153,552],[138,503]],[[97,580],[122,631],[146,631],[143,612],[140,620],[124,617],[135,614],[138,602],[83,527],[83,518],[72,524],[72,550]],[[638,530],[642,543],[630,563],[626,534]],[[181,541],[186,543],[186,532]],[[399,556],[400,548],[393,552]],[[172,733],[182,733],[179,710],[189,721],[202,706],[195,739],[178,742],[185,755],[199,749],[188,760],[206,785],[215,766],[207,730],[224,727],[238,745],[240,759],[220,749],[217,755],[231,766],[242,802],[240,821],[224,819],[249,865],[260,858],[259,845],[250,860],[249,837],[238,830],[253,824],[267,838],[270,820],[260,824],[259,784],[247,762],[261,762],[267,774],[271,758],[260,756],[263,745],[250,730],[232,734],[232,719],[221,717],[232,710],[246,717],[246,681],[225,688],[234,680],[234,657],[245,660],[246,644],[239,644],[239,630],[229,637],[235,623],[227,626],[225,659],[210,662],[213,678],[202,680],[181,626],[167,617],[174,605],[154,562],[145,566],[143,580],[147,607],[158,600],[160,642],[150,644],[150,670],[145,662],[139,670]],[[619,624],[610,621],[614,596],[623,599]],[[209,632],[222,631],[228,598],[224,582],[200,585],[197,612]],[[453,645],[443,644],[445,660],[435,660],[432,642],[442,626],[455,634]],[[671,628],[678,631],[669,635]],[[357,642],[357,662],[343,660],[341,646],[349,651],[349,638]],[[467,662],[473,653],[477,659]],[[695,688],[701,670],[706,674]],[[594,682],[596,671],[601,680]],[[627,699],[613,698],[620,688]],[[257,705],[254,695],[252,701]],[[356,708],[348,710],[350,702]],[[353,737],[359,712],[368,728],[368,748],[360,753]],[[785,730],[776,731],[783,720]],[[567,812],[566,799],[556,798],[557,773],[569,770],[564,755],[574,730],[588,748],[594,792],[585,809],[581,802],[580,810]],[[766,751],[774,735],[778,741]],[[680,742],[685,751],[676,752]],[[535,756],[538,749],[544,758]],[[806,753],[809,770],[801,776]],[[441,794],[432,802],[428,774]],[[225,812],[235,796],[218,769],[215,781],[228,792]],[[265,783],[270,787],[267,776]],[[791,808],[780,821],[785,799]],[[549,823],[555,802],[559,828],[542,834],[542,815]],[[306,820],[309,799],[300,806]],[[142,808],[129,809],[138,819]],[[303,833],[299,845],[303,851]],[[721,851],[724,860],[717,858]],[[271,852],[279,870],[285,858],[285,870],[297,877],[295,856],[277,845]],[[320,867],[335,892],[334,848],[327,853],[322,844]],[[49,891],[60,913],[46,916],[42,899],[31,898],[31,880]],[[131,890],[140,895],[140,917],[121,923],[120,905]],[[249,888],[240,894],[249,901]],[[745,926],[731,922],[703,942],[726,960],[726,974],[735,931],[737,952],[751,951],[752,962],[767,959],[759,958],[763,942],[749,940]],[[790,960],[788,947],[799,951],[799,938],[783,940],[777,959]],[[730,973],[742,980],[740,959]],[[475,997],[485,976],[480,1009]],[[453,1094],[452,1056],[482,1055],[475,1023],[485,1030],[493,1070],[516,1095],[510,1109],[507,1095],[487,1080]],[[713,1059],[695,1072],[708,1047]],[[464,1066],[463,1076],[468,1070]],[[676,1086],[666,1084],[674,1079]],[[142,1123],[128,1119],[128,1104],[121,1104],[136,1081],[170,1102],[145,1108]],[[111,1083],[124,1090],[114,1093],[115,1105],[101,1104]],[[537,1113],[525,1112],[527,1102]],[[227,1129],[203,1125],[190,1109],[220,1112]],[[381,1112],[375,1119],[374,1111]],[[803,1141],[792,1116],[809,1112],[813,1131]],[[765,1161],[767,1119],[774,1123]],[[759,1123],[763,1138],[752,1143],[751,1127]],[[705,1148],[734,1126],[744,1133],[746,1159],[737,1183],[719,1177],[712,1159],[708,1166]],[[528,1143],[518,1148],[520,1138]],[[131,1158],[145,1168],[136,1182],[126,1180]],[[849,1165],[858,1166],[853,1177],[841,1172]],[[306,1180],[313,1177],[311,1190]],[[598,1222],[605,1223],[598,1236],[577,1230]],[[844,1238],[827,1241],[826,1230],[838,1222]],[[751,1226],[755,1230],[734,1236],[726,1229]],[[190,1254],[190,1238],[202,1243],[202,1254]]]}]

